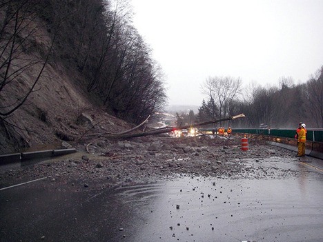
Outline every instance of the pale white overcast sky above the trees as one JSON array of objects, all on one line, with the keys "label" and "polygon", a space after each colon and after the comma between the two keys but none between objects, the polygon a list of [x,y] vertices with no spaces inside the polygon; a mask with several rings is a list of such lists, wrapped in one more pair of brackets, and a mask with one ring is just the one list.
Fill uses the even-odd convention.
[{"label": "pale white overcast sky above the trees", "polygon": [[207,77],[304,83],[323,65],[323,0],[131,0],[170,104],[201,105]]}]

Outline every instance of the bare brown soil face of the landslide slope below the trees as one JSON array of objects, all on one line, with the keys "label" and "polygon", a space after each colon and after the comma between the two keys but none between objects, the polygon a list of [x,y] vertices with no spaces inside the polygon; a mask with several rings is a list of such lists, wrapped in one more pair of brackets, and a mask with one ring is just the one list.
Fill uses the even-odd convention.
[{"label": "bare brown soil face of the landslide slope below the trees", "polygon": [[[67,74],[68,73],[68,74]],[[25,88],[35,78],[26,74]],[[95,123],[106,131],[118,132],[130,125],[101,110],[90,100],[75,81],[76,73],[64,70],[61,65],[47,65],[35,92],[26,103],[1,123],[0,154],[20,150],[58,148],[61,141],[73,143]],[[17,91],[21,91],[21,86]],[[82,114],[88,114],[93,122],[84,125],[77,121]]]}]

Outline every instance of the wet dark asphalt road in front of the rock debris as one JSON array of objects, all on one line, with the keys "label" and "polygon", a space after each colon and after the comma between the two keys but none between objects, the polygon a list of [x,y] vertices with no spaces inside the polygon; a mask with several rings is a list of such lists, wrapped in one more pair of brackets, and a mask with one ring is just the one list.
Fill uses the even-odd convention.
[{"label": "wet dark asphalt road in front of the rock debris", "polygon": [[100,191],[42,179],[0,190],[0,241],[323,241],[311,161],[278,164],[300,171],[281,179],[183,174]]}]

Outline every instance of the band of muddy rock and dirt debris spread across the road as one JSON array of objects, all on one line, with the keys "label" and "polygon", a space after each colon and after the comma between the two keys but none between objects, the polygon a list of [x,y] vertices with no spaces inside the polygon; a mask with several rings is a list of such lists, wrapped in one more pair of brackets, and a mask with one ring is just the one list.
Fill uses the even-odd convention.
[{"label": "band of muddy rock and dirt debris spread across the road", "polygon": [[280,179],[299,174],[288,165],[286,169],[275,167],[275,162],[293,161],[295,154],[291,151],[251,140],[249,150],[244,152],[239,137],[211,138],[159,136],[111,141],[101,137],[90,145],[79,143],[81,152],[6,170],[0,174],[0,184],[4,187],[48,177],[57,189],[68,185],[71,190],[97,190],[146,183],[173,174],[222,179]]}]

